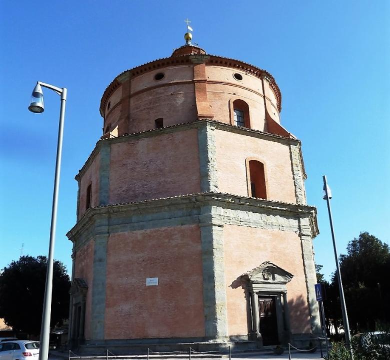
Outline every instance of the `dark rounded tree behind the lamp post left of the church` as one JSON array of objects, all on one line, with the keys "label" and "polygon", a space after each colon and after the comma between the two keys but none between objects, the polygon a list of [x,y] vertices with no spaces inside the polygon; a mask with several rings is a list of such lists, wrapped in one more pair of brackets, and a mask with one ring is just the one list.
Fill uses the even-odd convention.
[{"label": "dark rounded tree behind the lamp post left of the church", "polygon": [[[0,317],[16,331],[40,331],[46,279],[45,256],[20,256],[0,275]],[[70,280],[65,266],[54,261],[50,325],[68,317]]]}]

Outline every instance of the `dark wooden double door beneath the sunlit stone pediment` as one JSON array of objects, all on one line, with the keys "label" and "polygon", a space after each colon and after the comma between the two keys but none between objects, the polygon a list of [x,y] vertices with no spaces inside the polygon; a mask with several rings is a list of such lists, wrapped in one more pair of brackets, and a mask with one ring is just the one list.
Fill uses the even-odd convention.
[{"label": "dark wooden double door beneath the sunlit stone pediment", "polygon": [[259,330],[264,346],[279,343],[275,305],[274,296],[258,296]]}]

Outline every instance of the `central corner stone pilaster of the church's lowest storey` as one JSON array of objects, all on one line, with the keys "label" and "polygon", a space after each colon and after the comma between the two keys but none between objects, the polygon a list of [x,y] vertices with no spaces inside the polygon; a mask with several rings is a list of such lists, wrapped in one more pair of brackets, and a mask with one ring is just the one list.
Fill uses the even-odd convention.
[{"label": "central corner stone pilaster of the church's lowest storey", "polygon": [[212,221],[212,206],[203,208],[200,218],[204,335],[208,339],[226,340],[228,334],[223,225]]}]

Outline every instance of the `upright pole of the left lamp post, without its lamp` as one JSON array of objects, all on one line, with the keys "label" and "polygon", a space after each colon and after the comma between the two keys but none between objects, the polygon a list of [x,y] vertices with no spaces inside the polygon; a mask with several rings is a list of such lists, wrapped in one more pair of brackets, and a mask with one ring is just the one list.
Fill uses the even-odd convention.
[{"label": "upright pole of the left lamp post, without its lamp", "polygon": [[55,226],[57,223],[58,185],[59,185],[59,174],[61,169],[63,120],[65,115],[65,105],[66,105],[65,88],[62,89],[60,96],[61,96],[61,107],[59,110],[57,155],[55,160],[54,190],[53,190],[53,201],[51,207],[49,252],[47,257],[46,283],[44,287],[42,323],[40,327],[39,360],[47,360],[49,336],[50,336],[50,314],[51,314],[51,293],[52,293],[52,285],[53,285],[53,256],[54,256]]}]

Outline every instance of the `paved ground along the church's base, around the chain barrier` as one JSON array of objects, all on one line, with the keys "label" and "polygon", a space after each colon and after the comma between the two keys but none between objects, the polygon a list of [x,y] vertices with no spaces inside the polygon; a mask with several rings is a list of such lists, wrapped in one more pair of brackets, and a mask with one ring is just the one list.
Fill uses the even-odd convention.
[{"label": "paved ground along the church's base, around the chain barrier", "polygon": [[[59,352],[59,351],[50,351],[49,353],[49,360],[65,360],[67,359],[68,354],[66,352]],[[104,356],[105,357],[105,356]],[[275,355],[272,351],[253,351],[253,352],[241,352],[241,353],[232,353],[231,354],[232,359],[239,359],[239,360],[254,360],[254,359],[271,359],[271,360],[284,360],[288,359],[288,351],[284,351],[281,355]],[[305,360],[318,360],[321,358],[320,351],[313,352],[313,353],[304,353],[304,352],[297,352],[297,351],[291,351],[291,360],[298,360],[298,359],[305,359]],[[111,358],[109,360],[112,360],[114,358]],[[120,360],[125,360],[125,356],[121,356],[119,358]],[[143,360],[146,359],[146,356],[129,356],[128,359],[134,359],[134,360]],[[188,357],[184,356],[149,356],[150,360],[182,360],[187,359]],[[208,359],[222,359],[226,360],[228,359],[228,356],[223,357],[207,357],[207,356],[199,356],[199,355],[192,355],[191,360],[208,360]],[[72,360],[77,360],[77,358],[73,358]],[[81,360],[88,360],[82,359]]]}]

